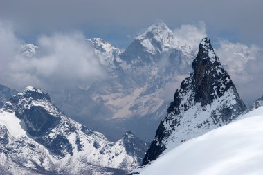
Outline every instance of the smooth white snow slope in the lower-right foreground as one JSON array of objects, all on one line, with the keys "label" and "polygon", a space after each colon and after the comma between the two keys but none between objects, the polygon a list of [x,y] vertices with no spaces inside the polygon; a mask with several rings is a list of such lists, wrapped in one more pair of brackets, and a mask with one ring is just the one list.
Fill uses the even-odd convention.
[{"label": "smooth white snow slope in the lower-right foreground", "polygon": [[263,107],[240,118],[188,140],[140,174],[263,174]]}]

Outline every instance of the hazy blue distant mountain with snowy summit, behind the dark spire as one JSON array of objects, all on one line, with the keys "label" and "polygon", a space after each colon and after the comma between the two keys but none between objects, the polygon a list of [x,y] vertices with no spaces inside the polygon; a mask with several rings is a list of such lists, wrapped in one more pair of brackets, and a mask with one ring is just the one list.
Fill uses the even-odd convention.
[{"label": "hazy blue distant mountain with snowy summit, behind the dark spire", "polygon": [[163,22],[150,26],[123,53],[103,39],[88,41],[109,77],[86,88],[50,91],[54,103],[114,140],[129,130],[152,140],[172,100],[167,92],[190,73],[194,52],[179,45]]}]

